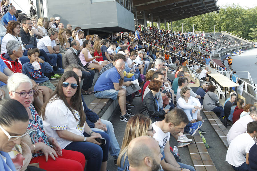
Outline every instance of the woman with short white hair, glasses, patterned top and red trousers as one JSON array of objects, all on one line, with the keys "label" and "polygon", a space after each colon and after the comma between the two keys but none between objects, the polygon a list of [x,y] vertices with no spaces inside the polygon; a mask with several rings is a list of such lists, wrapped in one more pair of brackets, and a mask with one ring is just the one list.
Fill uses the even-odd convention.
[{"label": "woman with short white hair, glasses, patterned top and red trousers", "polygon": [[[32,159],[30,163],[39,163],[39,167],[45,170],[80,170],[85,167],[85,157],[82,153],[62,150],[57,143],[56,137],[45,133],[42,119],[39,117],[34,106],[31,104],[35,91],[28,76],[21,73],[14,73],[8,78],[8,89],[11,99],[19,101],[24,107],[29,119],[27,130],[29,137],[24,142],[29,145]],[[8,107],[11,109],[9,105]],[[15,105],[15,110],[16,105]],[[1,124],[1,123],[0,123]],[[17,127],[17,129],[21,129]]]}]

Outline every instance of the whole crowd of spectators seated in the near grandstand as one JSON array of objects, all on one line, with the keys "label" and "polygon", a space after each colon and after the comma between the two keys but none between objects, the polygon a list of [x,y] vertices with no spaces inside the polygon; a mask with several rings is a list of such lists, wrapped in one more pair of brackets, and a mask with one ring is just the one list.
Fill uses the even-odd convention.
[{"label": "whole crowd of spectators seated in the near grandstand", "polygon": [[[85,36],[80,27],[73,29],[68,24],[64,28],[60,17],[51,17],[49,21],[37,19],[33,2],[30,4],[29,17],[9,5],[9,0],[1,5],[0,97],[4,100],[0,101],[0,143],[4,145],[0,146],[0,170],[84,170],[86,167],[105,171],[110,152],[118,170],[195,171],[170,151],[169,140],[172,135],[177,146],[184,147],[192,141],[184,133],[192,136],[197,131],[205,133],[200,129],[203,107],[234,124],[244,125],[240,133],[230,133],[230,142],[234,144],[237,139],[234,134],[243,134],[249,140],[241,142],[246,148],[243,149],[246,164],[240,163],[242,157],[239,162],[235,159],[231,162],[228,157],[229,164],[237,169],[254,162],[249,154],[253,145],[250,137],[255,137],[257,131],[256,124],[251,122],[256,121],[256,108],[245,105],[233,93],[224,109],[216,105],[218,97],[206,75],[210,73],[209,56],[185,46],[192,42],[210,50],[211,42],[201,34],[171,33],[139,25],[135,32],[127,33],[135,40],[118,33],[113,40],[108,34]],[[192,61],[188,63],[187,59]],[[201,69],[195,62],[206,68]],[[174,65],[178,66],[177,70]],[[183,71],[183,66],[189,66],[203,80],[196,93],[188,87],[195,80]],[[174,81],[167,73],[175,74]],[[51,79],[60,79],[56,87]],[[134,81],[141,90],[128,94],[126,87]],[[127,122],[121,149],[112,123],[100,119],[85,104],[83,95],[92,93],[97,98],[118,99],[119,119]],[[133,98],[142,99],[139,115],[130,111],[135,106]],[[10,106],[15,107],[9,109]],[[256,151],[253,147],[252,151]],[[230,148],[228,153],[232,155],[234,146]],[[17,162],[18,154],[23,157]]]}]

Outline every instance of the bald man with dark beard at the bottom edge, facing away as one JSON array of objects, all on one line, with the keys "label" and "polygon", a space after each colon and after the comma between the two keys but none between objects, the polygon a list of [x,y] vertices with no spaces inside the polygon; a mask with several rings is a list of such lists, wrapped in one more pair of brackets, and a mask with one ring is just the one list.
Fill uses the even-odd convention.
[{"label": "bald man with dark beard at the bottom edge, facing away", "polygon": [[134,138],[128,144],[129,166],[125,171],[152,171],[160,169],[162,148],[149,136]]}]

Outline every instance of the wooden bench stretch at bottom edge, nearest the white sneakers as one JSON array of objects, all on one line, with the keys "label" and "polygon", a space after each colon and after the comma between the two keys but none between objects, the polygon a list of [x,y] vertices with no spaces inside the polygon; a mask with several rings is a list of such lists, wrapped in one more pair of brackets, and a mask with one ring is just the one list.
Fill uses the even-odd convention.
[{"label": "wooden bench stretch at bottom edge, nearest the white sneakers", "polygon": [[195,170],[217,171],[206,147],[204,146],[200,134],[195,134],[194,136],[190,136],[190,134],[188,134],[187,137],[192,139],[192,142],[188,145],[188,149]]}]

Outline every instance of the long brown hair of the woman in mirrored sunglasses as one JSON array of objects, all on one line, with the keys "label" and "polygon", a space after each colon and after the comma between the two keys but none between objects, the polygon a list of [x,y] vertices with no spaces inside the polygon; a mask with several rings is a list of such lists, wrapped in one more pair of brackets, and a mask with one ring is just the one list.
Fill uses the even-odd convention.
[{"label": "long brown hair of the woman in mirrored sunglasses", "polygon": [[[71,97],[71,106],[69,105],[69,103],[67,102],[65,95],[63,93],[63,85],[62,83],[67,80],[68,78],[73,77],[76,79],[77,81],[77,90],[76,93],[73,95],[73,97]],[[76,119],[76,121],[79,121],[76,116],[75,116],[75,112],[74,110],[79,112],[79,116],[80,116],[80,127],[83,127],[83,125],[86,122],[86,116],[84,113],[84,109],[83,109],[83,105],[82,105],[82,101],[81,101],[81,90],[80,90],[80,84],[79,84],[79,77],[77,76],[77,74],[73,71],[67,71],[65,72],[62,77],[60,78],[60,81],[58,82],[55,91],[53,92],[53,94],[51,95],[51,97],[49,98],[48,101],[46,101],[44,103],[44,105],[41,108],[41,111],[39,113],[39,116],[45,120],[45,108],[47,106],[48,103],[51,103],[57,99],[61,99],[64,104],[66,105],[66,107],[71,111],[71,113],[73,114],[74,118]]]}]

